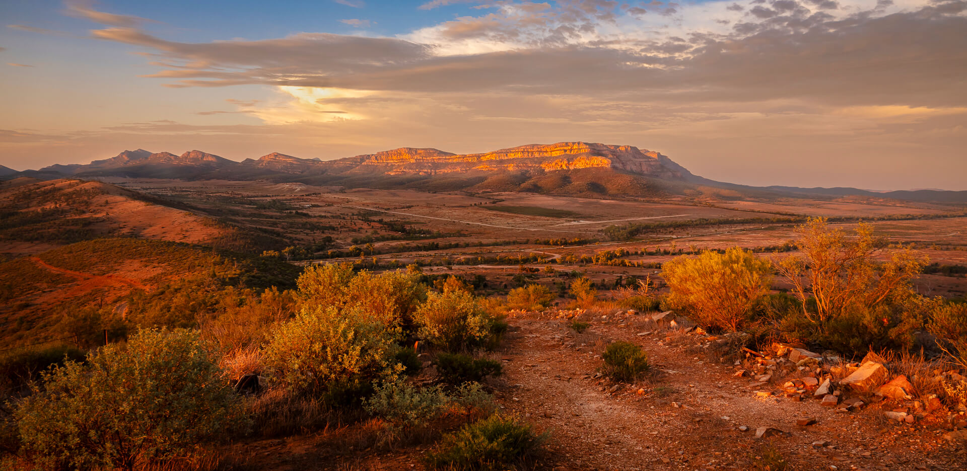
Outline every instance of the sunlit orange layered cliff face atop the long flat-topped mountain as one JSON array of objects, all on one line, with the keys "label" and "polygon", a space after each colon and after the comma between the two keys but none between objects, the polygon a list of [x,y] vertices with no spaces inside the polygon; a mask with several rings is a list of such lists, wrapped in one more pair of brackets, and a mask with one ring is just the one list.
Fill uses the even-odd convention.
[{"label": "sunlit orange layered cliff face atop the long flat-topped mountain", "polygon": [[659,152],[642,152],[632,146],[609,146],[584,142],[531,144],[494,152],[454,154],[436,149],[401,148],[357,155],[334,163],[357,163],[359,171],[378,169],[389,175],[491,172],[498,170],[544,171],[605,167],[662,178],[685,178],[688,170]]}]

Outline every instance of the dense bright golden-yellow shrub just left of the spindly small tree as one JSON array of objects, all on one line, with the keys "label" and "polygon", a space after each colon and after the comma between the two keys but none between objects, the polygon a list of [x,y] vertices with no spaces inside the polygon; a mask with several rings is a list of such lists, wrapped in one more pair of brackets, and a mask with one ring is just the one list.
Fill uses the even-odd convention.
[{"label": "dense bright golden-yellow shrub just left of the spindly small tree", "polygon": [[677,257],[662,265],[669,305],[713,329],[739,330],[756,298],[769,292],[772,263],[738,247]]}]

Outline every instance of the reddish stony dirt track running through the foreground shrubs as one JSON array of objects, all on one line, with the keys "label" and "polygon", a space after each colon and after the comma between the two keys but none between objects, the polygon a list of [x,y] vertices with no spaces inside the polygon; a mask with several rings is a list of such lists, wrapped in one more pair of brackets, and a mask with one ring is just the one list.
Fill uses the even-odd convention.
[{"label": "reddish stony dirt track running through the foreground shrubs", "polygon": [[[874,406],[836,413],[818,402],[759,398],[747,379],[732,375],[730,365],[668,346],[663,334],[639,336],[630,326],[598,321],[592,331],[642,345],[661,372],[650,384],[625,386],[612,395],[605,389],[610,383],[592,378],[601,366],[596,348],[564,346],[572,339],[553,320],[513,323],[520,330],[504,354],[510,360],[509,390],[501,403],[550,430],[562,469],[748,469],[766,445],[775,446],[795,470],[967,466],[963,451],[940,438],[944,431],[937,424],[897,425],[881,419]],[[638,387],[647,392],[637,395]],[[660,397],[662,390],[667,397]],[[800,417],[818,423],[799,427]],[[789,433],[755,440],[758,427]],[[814,441],[831,446],[813,449]]]}]

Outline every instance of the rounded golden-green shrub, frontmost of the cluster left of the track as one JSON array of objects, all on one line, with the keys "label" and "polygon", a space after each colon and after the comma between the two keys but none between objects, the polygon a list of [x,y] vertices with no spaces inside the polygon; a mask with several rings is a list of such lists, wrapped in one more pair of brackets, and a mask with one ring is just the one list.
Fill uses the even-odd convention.
[{"label": "rounded golden-green shrub, frontmost of the cluster left of the track", "polygon": [[350,402],[403,370],[393,358],[397,333],[365,313],[320,306],[279,323],[263,358],[291,393]]}]

